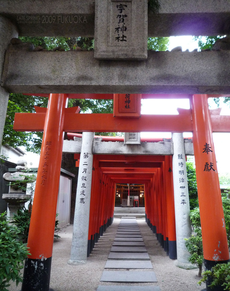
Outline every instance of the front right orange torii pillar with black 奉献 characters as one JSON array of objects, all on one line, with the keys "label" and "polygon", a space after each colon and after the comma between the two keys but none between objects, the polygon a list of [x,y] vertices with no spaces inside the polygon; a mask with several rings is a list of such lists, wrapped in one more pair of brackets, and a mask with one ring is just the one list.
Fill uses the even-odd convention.
[{"label": "front right orange torii pillar with black \u5949\u732e characters", "polygon": [[[205,269],[229,261],[224,212],[213,143],[213,130],[207,95],[194,95],[193,146]],[[207,290],[210,290],[207,282]]]}]

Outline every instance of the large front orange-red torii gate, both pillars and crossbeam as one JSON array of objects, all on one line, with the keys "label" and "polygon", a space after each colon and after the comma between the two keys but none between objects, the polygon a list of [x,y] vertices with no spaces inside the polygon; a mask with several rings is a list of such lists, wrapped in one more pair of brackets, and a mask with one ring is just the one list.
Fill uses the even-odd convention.
[{"label": "large front orange-red torii gate, both pillars and crossbeam", "polygon": [[[229,132],[230,116],[210,116],[207,103],[208,97],[219,96],[180,95],[183,98],[190,98],[192,110],[179,115],[130,117],[129,122],[123,117],[114,118],[113,114],[73,113],[72,110],[75,109],[66,109],[67,97],[73,96],[76,98],[76,95],[50,94],[46,113],[44,109],[40,113],[16,113],[15,130],[43,131],[44,129],[28,238],[31,256],[25,263],[22,291],[32,291],[34,285],[37,286],[37,290],[41,288],[45,291],[49,290],[59,184],[56,177],[60,174],[64,131],[193,131],[205,266],[210,269],[217,262],[229,261],[212,132]],[[85,97],[87,96],[89,97],[89,95]],[[97,97],[97,94],[94,97]],[[208,145],[211,151],[204,152],[205,145]],[[46,203],[44,203],[44,194]],[[209,201],[209,208],[207,201]]]}]

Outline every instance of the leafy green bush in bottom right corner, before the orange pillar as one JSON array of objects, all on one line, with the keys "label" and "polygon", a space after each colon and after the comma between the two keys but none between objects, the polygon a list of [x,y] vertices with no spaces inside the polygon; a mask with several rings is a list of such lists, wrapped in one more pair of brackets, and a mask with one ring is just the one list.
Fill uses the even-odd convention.
[{"label": "leafy green bush in bottom right corner, before the orange pillar", "polygon": [[[230,263],[216,264],[211,270],[205,271],[203,278],[198,282],[201,285],[202,282],[211,281],[209,287],[224,287],[224,290],[230,290]],[[217,289],[216,289],[217,290]]]}]

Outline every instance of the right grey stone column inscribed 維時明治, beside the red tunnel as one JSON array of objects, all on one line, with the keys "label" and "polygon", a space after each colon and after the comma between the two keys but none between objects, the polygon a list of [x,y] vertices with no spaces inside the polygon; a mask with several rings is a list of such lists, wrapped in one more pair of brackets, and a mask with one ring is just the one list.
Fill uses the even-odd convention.
[{"label": "right grey stone column inscribed \u7dad\u6642\u660e\u6cbb, beside the red tunnel", "polygon": [[177,261],[175,264],[180,268],[191,269],[194,266],[188,262],[189,253],[184,241],[184,238],[189,238],[191,235],[191,223],[183,134],[172,133],[172,141],[174,147],[173,185],[177,237]]}]

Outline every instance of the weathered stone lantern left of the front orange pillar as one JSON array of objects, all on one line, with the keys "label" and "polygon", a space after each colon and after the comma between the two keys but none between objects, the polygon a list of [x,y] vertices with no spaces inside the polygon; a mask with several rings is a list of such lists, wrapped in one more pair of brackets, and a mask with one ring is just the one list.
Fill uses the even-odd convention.
[{"label": "weathered stone lantern left of the front orange pillar", "polygon": [[[10,186],[10,193],[2,194],[2,199],[8,203],[10,218],[13,217],[14,213],[17,213],[19,208],[23,208],[25,206],[25,202],[31,199],[31,195],[26,194],[25,190],[27,182],[23,182],[26,177],[31,177],[31,174],[23,172],[27,169],[27,162],[25,160],[19,160],[16,166],[17,172],[13,174],[5,173],[3,175],[3,179],[5,181],[16,182]],[[30,182],[34,182],[35,180],[36,178],[31,178]]]}]

